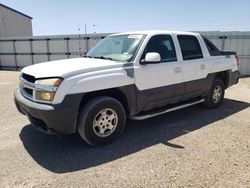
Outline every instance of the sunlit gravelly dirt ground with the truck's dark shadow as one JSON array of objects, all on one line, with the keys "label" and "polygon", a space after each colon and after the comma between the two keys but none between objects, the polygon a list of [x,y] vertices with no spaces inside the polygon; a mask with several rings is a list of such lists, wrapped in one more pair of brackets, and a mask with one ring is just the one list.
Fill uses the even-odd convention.
[{"label": "sunlit gravelly dirt ground with the truck's dark shadow", "polygon": [[17,112],[18,72],[0,71],[0,187],[250,187],[250,78],[221,108],[128,121],[113,144],[37,132]]}]

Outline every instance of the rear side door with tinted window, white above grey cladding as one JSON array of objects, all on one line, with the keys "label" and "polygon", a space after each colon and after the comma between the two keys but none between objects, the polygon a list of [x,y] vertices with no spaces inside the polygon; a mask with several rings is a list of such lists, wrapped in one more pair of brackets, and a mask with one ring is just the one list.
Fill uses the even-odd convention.
[{"label": "rear side door with tinted window, white above grey cladding", "polygon": [[206,87],[206,59],[199,38],[193,35],[178,35],[182,54],[182,81],[184,95],[182,99],[200,96]]}]

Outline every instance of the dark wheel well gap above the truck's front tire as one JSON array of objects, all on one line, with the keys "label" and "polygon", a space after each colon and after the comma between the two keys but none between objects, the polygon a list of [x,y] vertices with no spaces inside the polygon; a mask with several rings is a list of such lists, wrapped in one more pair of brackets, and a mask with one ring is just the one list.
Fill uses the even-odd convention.
[{"label": "dark wheel well gap above the truck's front tire", "polygon": [[122,106],[124,107],[126,114],[129,114],[127,98],[122,91],[120,91],[119,89],[116,89],[116,88],[100,90],[100,91],[93,91],[93,92],[87,93],[86,95],[84,95],[82,97],[81,104],[79,106],[78,111],[80,111],[81,107],[84,106],[88,101],[90,101],[93,98],[100,97],[100,96],[108,96],[108,97],[112,97],[112,98],[118,100],[122,104]]}]

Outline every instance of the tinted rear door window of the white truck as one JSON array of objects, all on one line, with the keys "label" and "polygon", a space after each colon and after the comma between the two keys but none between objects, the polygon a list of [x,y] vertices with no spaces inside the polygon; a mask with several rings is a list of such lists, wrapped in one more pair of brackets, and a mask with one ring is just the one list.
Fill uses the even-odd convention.
[{"label": "tinted rear door window of the white truck", "polygon": [[201,46],[196,37],[190,35],[177,36],[183,60],[203,58]]}]

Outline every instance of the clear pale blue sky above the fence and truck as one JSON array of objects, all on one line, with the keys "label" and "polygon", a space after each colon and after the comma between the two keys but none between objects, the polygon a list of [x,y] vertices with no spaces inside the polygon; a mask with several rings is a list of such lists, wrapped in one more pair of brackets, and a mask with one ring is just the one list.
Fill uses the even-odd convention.
[{"label": "clear pale blue sky above the fence and truck", "polygon": [[1,0],[0,3],[33,17],[34,35],[84,33],[85,24],[88,33],[250,30],[250,0]]}]

